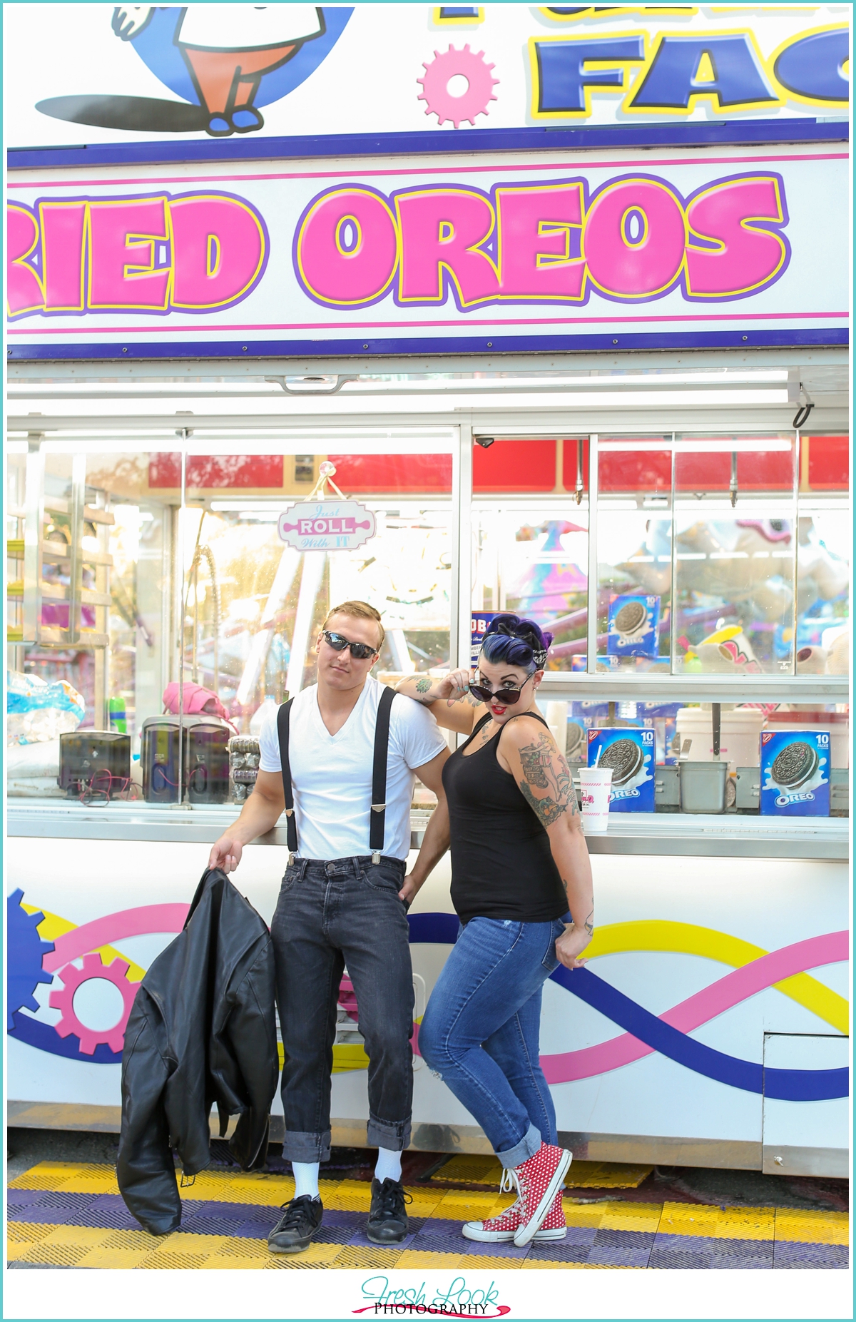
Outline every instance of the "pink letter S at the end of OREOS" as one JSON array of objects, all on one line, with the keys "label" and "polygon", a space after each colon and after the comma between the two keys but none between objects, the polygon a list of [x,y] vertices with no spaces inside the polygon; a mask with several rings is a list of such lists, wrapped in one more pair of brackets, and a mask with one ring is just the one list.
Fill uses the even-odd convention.
[{"label": "pink letter S at the end of OREOS", "polygon": [[695,297],[746,293],[766,284],[787,255],[785,239],[750,221],[783,219],[777,178],[715,184],[687,208],[690,239],[712,239],[717,250],[687,247],[687,292]]}]

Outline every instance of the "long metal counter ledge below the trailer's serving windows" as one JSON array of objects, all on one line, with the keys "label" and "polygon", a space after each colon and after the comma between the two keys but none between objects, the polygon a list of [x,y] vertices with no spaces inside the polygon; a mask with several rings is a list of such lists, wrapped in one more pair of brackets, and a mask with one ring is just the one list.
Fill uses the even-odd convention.
[{"label": "long metal counter ledge below the trailer's serving windows", "polygon": [[[161,806],[111,802],[85,808],[62,800],[11,798],[9,836],[61,839],[149,839],[210,843],[238,816],[235,804]],[[411,839],[417,847],[428,814],[411,813]],[[819,858],[847,862],[849,821],[845,817],[695,816],[688,813],[624,813],[609,818],[604,836],[589,836],[592,854],[707,855],[713,858]],[[259,845],[285,845],[285,826]]]}]

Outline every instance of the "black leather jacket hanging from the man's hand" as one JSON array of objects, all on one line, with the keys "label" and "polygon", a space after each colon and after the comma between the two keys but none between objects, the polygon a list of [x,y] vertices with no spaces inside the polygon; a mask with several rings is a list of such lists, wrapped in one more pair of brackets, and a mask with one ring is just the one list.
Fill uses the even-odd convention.
[{"label": "black leather jacket hanging from the man's hand", "polygon": [[279,1063],[271,933],[219,869],[202,875],[184,931],[136,994],[122,1056],[116,1175],[128,1211],[152,1235],[181,1224],[172,1147],[184,1173],[210,1163],[209,1114],[243,1170],[267,1159]]}]

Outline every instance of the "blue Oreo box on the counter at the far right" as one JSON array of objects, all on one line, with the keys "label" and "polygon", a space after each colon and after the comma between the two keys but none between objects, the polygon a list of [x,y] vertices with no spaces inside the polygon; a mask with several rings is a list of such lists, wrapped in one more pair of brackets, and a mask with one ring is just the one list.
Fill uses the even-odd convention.
[{"label": "blue Oreo box on the counter at the far right", "polygon": [[830,816],[830,731],[761,731],[761,813]]}]

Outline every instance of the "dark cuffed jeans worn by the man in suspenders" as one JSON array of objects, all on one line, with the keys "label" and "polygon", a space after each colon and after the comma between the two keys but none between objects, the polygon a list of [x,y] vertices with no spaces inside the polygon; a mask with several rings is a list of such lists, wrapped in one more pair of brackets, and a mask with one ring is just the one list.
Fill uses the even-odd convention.
[{"label": "dark cuffed jeans worn by the man in suspenders", "polygon": [[330,1071],[342,969],[354,984],[369,1055],[370,1146],[410,1144],[413,976],[407,910],[398,898],[404,863],[371,855],[329,863],[296,858],[285,869],[271,924],[285,1063],[287,1161],[330,1157]]}]

